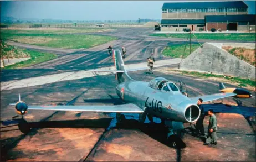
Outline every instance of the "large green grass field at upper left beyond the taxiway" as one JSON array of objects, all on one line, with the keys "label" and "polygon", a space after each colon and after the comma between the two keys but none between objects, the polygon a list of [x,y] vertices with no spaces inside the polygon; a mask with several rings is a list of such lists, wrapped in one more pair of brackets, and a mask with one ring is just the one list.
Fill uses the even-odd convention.
[{"label": "large green grass field at upper left beyond the taxiway", "polygon": [[[75,31],[78,31],[77,29]],[[84,29],[81,29],[82,31]],[[60,33],[58,33],[60,32]],[[63,32],[63,33],[62,33]],[[64,34],[65,33],[65,34]],[[81,32],[83,33],[83,32]],[[55,48],[79,49],[104,44],[117,38],[112,36],[68,34],[66,30],[1,30],[2,40],[49,46]]]}]

